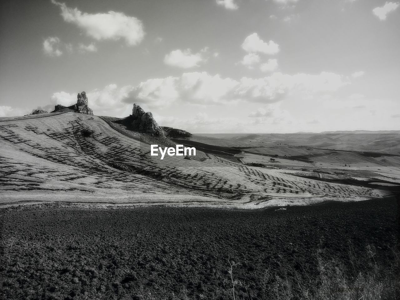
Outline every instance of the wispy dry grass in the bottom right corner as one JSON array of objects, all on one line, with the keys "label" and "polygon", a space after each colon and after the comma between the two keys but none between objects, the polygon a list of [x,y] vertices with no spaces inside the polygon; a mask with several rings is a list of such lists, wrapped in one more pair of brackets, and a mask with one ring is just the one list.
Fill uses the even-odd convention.
[{"label": "wispy dry grass in the bottom right corner", "polygon": [[[296,274],[306,275],[313,288],[294,286],[288,278],[276,276],[273,297],[280,300],[398,300],[400,299],[400,253],[392,251],[392,263],[387,268],[375,260],[376,251],[367,246],[364,256],[356,256],[350,245],[350,270],[338,260],[323,258],[323,250],[316,254],[318,276],[309,277],[307,270]],[[303,273],[303,274],[301,274]],[[267,271],[268,274],[268,271]]]}]

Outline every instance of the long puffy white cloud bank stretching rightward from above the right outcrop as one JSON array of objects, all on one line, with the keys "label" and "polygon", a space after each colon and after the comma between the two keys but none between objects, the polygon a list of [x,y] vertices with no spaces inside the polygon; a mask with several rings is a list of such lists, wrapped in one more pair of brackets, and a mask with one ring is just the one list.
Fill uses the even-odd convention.
[{"label": "long puffy white cloud bank stretching rightward from above the right outcrop", "polygon": [[272,103],[287,94],[310,96],[320,92],[333,92],[349,84],[343,76],[322,72],[318,75],[273,73],[263,78],[240,80],[222,78],[207,72],[184,73],[178,77],[154,78],[132,88],[127,103],[140,102],[149,107],[165,106],[176,102],[191,104],[226,104],[230,102]]}]

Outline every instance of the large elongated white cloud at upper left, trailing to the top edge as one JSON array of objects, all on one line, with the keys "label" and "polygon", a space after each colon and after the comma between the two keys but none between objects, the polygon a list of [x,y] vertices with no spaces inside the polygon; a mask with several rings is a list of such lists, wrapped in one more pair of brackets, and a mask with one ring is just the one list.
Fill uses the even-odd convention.
[{"label": "large elongated white cloud at upper left, trailing to the top edge", "polygon": [[82,13],[78,8],[67,7],[65,3],[55,0],[51,0],[51,2],[60,6],[61,16],[65,22],[75,24],[87,36],[95,40],[120,40],[122,38],[129,46],[134,46],[142,42],[144,38],[142,21],[135,17],[112,10],[98,14]]}]

